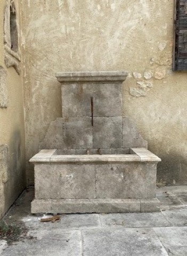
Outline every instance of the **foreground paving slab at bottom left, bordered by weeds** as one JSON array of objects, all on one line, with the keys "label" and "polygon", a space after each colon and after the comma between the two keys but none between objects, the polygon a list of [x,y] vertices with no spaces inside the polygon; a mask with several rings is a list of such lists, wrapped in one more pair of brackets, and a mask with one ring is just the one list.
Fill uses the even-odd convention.
[{"label": "foreground paving slab at bottom left, bordered by weeds", "polygon": [[82,255],[80,231],[36,230],[33,239],[7,246],[2,256],[79,256]]}]

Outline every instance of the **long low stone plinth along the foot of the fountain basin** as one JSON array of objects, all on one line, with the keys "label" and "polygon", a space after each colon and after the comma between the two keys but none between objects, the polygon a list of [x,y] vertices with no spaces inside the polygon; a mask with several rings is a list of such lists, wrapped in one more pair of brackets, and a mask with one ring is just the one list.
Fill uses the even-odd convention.
[{"label": "long low stone plinth along the foot of the fountain basin", "polygon": [[157,198],[147,199],[34,199],[31,213],[158,212]]}]

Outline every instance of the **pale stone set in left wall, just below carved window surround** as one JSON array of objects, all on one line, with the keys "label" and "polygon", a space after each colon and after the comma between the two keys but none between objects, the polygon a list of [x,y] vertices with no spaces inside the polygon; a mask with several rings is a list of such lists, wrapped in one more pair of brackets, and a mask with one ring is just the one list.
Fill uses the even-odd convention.
[{"label": "pale stone set in left wall, just below carved window surround", "polygon": [[8,106],[8,89],[6,77],[6,71],[3,67],[0,66],[0,108],[7,108]]}]

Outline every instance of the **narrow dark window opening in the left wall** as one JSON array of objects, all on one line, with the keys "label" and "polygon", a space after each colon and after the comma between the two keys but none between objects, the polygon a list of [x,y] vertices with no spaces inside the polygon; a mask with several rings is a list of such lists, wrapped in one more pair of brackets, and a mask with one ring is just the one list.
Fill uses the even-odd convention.
[{"label": "narrow dark window opening in the left wall", "polygon": [[17,17],[15,13],[15,8],[10,7],[10,35],[11,35],[11,50],[18,52],[18,27],[17,27]]}]

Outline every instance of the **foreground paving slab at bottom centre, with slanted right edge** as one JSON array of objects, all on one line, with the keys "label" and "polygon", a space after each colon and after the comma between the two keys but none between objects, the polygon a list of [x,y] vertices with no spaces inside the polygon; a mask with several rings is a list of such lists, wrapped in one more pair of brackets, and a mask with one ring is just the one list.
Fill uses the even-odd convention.
[{"label": "foreground paving slab at bottom centre, with slanted right edge", "polygon": [[97,229],[83,231],[84,256],[168,256],[149,228]]}]

